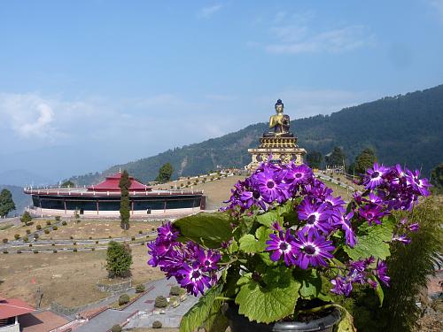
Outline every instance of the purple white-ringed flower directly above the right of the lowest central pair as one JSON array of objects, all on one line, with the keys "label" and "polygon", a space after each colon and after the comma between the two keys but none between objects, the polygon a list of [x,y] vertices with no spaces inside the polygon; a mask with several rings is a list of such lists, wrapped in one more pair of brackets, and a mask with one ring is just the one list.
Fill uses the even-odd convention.
[{"label": "purple white-ringed flower directly above the right of the lowest central pair", "polygon": [[312,235],[319,235],[319,230],[323,234],[329,234],[330,232],[330,209],[327,204],[312,204],[307,200],[303,201],[299,205],[299,220],[306,220],[307,224],[301,229],[303,233],[309,233]]}]

